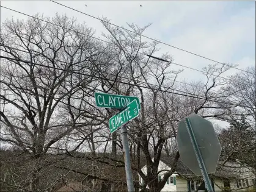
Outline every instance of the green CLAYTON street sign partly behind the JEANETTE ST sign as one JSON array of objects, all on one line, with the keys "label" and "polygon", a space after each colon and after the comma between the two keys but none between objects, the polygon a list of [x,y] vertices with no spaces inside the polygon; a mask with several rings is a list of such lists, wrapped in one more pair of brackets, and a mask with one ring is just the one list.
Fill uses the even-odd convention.
[{"label": "green CLAYTON street sign partly behind the JEANETTE ST sign", "polygon": [[94,95],[97,107],[123,108],[130,104],[130,102],[136,100],[137,104],[139,105],[139,109],[141,109],[139,98],[137,97],[107,93],[95,93]]}]

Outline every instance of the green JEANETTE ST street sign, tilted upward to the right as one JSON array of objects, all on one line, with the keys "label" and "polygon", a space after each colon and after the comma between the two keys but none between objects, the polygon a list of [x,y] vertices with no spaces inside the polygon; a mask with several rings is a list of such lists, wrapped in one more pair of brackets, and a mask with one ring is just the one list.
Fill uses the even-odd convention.
[{"label": "green JEANETTE ST street sign, tilted upward to the right", "polygon": [[117,130],[118,127],[122,126],[123,124],[131,121],[131,119],[136,118],[139,115],[139,107],[136,100],[133,100],[123,109],[121,112],[117,113],[116,115],[112,116],[109,119],[109,129],[110,132],[114,132]]}]

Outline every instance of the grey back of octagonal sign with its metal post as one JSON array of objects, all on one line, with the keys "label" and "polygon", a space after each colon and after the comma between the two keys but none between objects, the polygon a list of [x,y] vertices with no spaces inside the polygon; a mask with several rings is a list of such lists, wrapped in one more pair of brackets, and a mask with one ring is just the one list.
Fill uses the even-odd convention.
[{"label": "grey back of octagonal sign with its metal post", "polygon": [[197,176],[203,176],[207,191],[214,191],[208,173],[216,170],[221,144],[211,122],[192,113],[180,121],[176,140],[182,162]]}]

